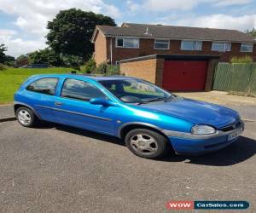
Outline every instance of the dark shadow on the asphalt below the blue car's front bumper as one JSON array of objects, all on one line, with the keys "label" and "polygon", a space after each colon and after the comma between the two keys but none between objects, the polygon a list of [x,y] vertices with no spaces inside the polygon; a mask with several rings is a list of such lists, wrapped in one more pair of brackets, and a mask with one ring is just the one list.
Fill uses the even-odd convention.
[{"label": "dark shadow on the asphalt below the blue car's front bumper", "polygon": [[256,141],[240,136],[240,138],[229,147],[213,153],[201,156],[172,156],[162,159],[168,162],[184,162],[186,164],[203,164],[213,166],[230,166],[239,164],[256,153]]}]

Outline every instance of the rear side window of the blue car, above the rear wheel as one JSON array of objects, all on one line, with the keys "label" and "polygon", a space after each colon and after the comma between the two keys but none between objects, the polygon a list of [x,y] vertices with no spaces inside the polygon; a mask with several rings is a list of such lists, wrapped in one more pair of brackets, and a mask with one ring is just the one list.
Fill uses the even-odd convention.
[{"label": "rear side window of the blue car, above the rear wheel", "polygon": [[41,78],[29,84],[26,89],[32,92],[55,95],[58,78]]}]

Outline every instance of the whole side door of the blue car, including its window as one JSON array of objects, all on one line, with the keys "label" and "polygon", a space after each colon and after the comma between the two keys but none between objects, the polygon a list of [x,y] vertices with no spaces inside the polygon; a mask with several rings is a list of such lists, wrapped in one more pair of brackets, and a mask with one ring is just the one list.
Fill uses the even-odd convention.
[{"label": "whole side door of the blue car, including its window", "polygon": [[116,107],[90,104],[92,98],[109,98],[95,83],[67,78],[55,96],[55,117],[61,124],[113,135]]}]

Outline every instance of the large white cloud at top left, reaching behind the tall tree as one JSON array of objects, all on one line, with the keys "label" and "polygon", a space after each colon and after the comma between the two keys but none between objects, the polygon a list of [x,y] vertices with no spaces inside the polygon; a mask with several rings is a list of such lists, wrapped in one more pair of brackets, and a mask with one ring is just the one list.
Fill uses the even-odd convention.
[{"label": "large white cloud at top left, reaching behind the tall tree", "polygon": [[47,21],[52,20],[60,10],[78,8],[95,13],[103,13],[117,18],[121,15],[119,9],[102,0],[0,0],[0,10],[7,14],[17,15],[15,25],[20,29],[44,34]]}]

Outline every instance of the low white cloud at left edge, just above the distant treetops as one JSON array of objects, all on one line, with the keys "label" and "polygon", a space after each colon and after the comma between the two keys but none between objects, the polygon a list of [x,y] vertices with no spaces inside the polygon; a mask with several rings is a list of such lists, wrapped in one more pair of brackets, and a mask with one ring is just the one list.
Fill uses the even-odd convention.
[{"label": "low white cloud at left edge, just above the distant treetops", "polygon": [[44,49],[45,41],[44,38],[39,38],[36,40],[24,40],[20,37],[15,38],[18,35],[18,32],[13,30],[0,30],[0,43],[4,43],[8,50],[7,55],[19,56],[32,52],[36,49]]}]

